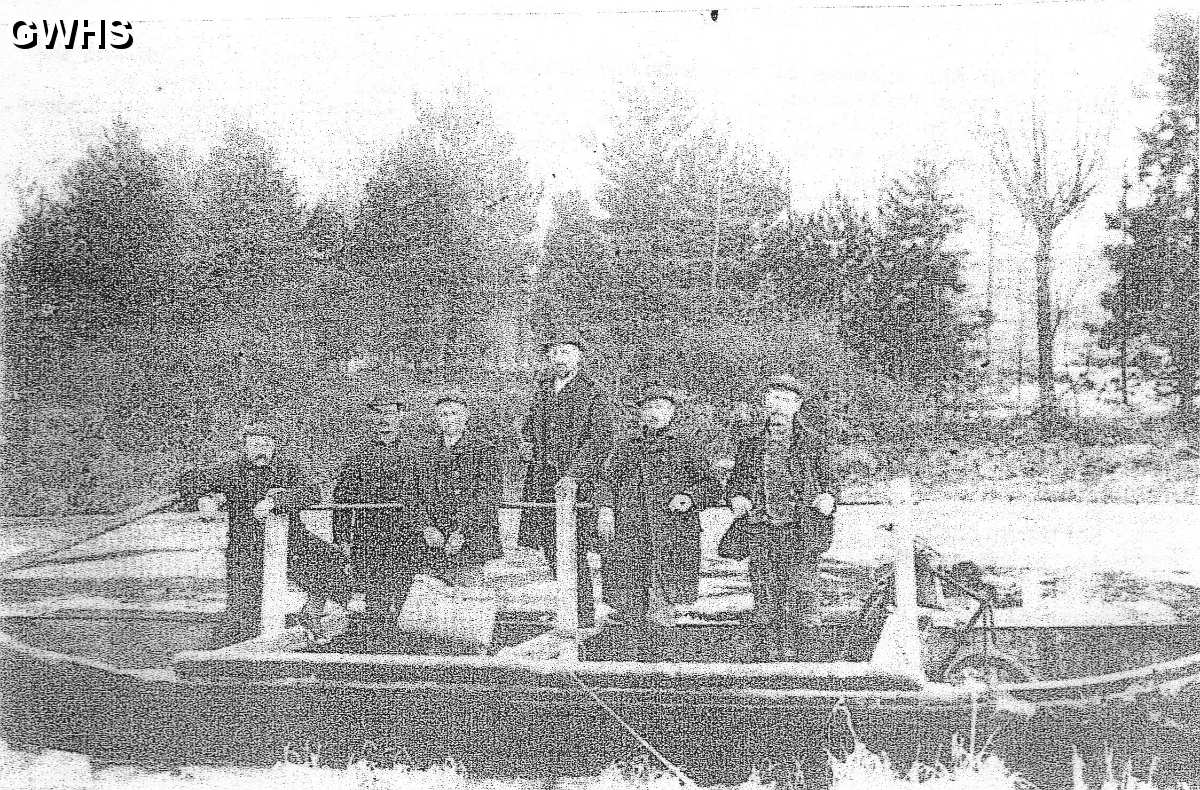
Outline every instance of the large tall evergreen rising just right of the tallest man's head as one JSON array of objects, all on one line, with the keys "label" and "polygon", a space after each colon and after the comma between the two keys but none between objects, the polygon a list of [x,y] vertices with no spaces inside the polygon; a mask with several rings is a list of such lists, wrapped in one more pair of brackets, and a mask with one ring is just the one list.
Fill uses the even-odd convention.
[{"label": "large tall evergreen rising just right of the tallest man's head", "polygon": [[[589,249],[604,250],[606,285],[589,303],[594,330],[637,373],[673,366],[673,339],[739,315],[752,298],[755,249],[787,205],[786,179],[778,162],[701,119],[692,97],[662,76],[626,89],[611,126],[596,140],[605,176],[596,202],[607,216],[583,232]],[[562,249],[574,229],[558,223],[547,247]],[[570,268],[554,256],[552,268]]]}]

